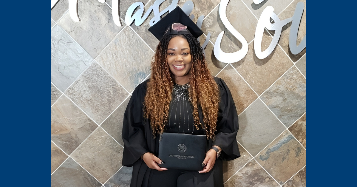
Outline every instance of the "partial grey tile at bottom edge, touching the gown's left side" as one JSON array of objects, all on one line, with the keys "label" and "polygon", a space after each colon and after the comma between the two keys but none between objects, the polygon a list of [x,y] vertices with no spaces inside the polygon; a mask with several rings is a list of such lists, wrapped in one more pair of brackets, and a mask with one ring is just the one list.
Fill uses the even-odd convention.
[{"label": "partial grey tile at bottom edge, touching the gown's left side", "polygon": [[130,187],[131,173],[133,167],[123,166],[117,173],[115,173],[108,182],[104,184],[105,187]]}]

